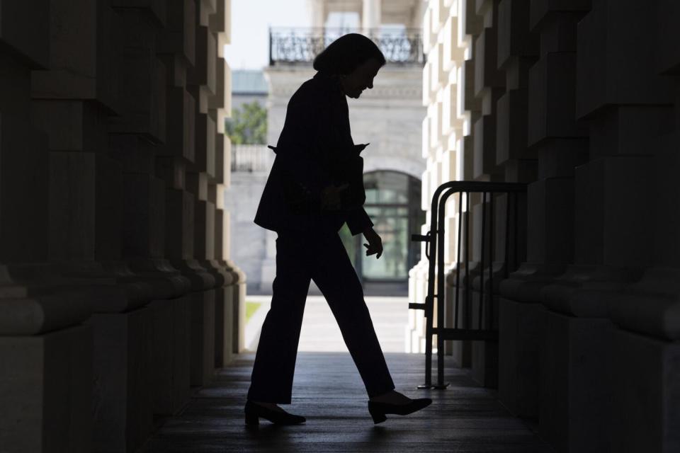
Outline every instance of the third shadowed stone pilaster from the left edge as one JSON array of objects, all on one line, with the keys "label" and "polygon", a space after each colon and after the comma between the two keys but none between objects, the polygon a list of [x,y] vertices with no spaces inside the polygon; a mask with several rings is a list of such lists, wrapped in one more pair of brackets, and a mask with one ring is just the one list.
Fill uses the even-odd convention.
[{"label": "third shadowed stone pilaster from the left edge", "polygon": [[[115,369],[131,369],[127,383],[132,389],[129,394],[150,400],[150,411],[143,414],[171,415],[186,403],[189,391],[186,347],[189,300],[185,296],[189,282],[164,258],[164,184],[155,174],[155,156],[159,144],[166,140],[165,73],[156,55],[157,35],[166,20],[166,11],[162,4],[145,2],[115,1],[113,6],[117,18],[113,30],[120,45],[115,66],[122,74],[120,107],[117,115],[109,120],[109,152],[118,161],[122,173],[118,198],[124,221],[118,225],[121,256],[111,258],[122,259],[109,262],[108,268],[118,273],[121,280],[147,285],[145,297],[150,303],[143,319],[127,316],[116,321],[98,317],[94,321],[102,331],[102,347],[135,352],[128,355],[128,363],[106,362],[107,372],[115,376]],[[128,266],[135,270],[134,274],[126,275]],[[135,341],[140,338],[146,338],[146,352],[138,357],[136,351],[140,345]],[[132,382],[139,378],[132,374],[132,369],[141,365],[148,369],[149,386],[137,391]],[[128,391],[125,380],[118,385],[118,391]],[[125,408],[115,406],[115,410],[125,413]],[[112,415],[102,410],[113,420],[101,420],[100,449],[122,448],[120,442],[127,442],[128,449],[134,449],[149,435],[152,420],[145,419],[144,428],[139,430],[135,412],[130,408],[127,411],[132,427],[121,424],[118,413]],[[111,430],[112,425],[118,429]]]}]

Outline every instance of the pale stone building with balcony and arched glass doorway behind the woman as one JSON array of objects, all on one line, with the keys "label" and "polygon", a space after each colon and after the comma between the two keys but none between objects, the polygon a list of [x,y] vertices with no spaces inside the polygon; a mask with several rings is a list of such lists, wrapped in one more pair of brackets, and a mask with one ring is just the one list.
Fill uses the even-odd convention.
[{"label": "pale stone building with balcony and arched glass doorway behind the woman", "polygon": [[[410,234],[419,231],[421,105],[421,2],[375,0],[310,1],[312,29],[271,30],[270,64],[265,69],[270,86],[268,142],[276,144],[283,128],[288,100],[314,76],[312,61],[329,42],[345,33],[361,32],[378,43],[387,57],[374,87],[360,100],[348,100],[352,137],[370,143],[363,151],[365,207],[382,236],[385,253],[380,260],[366,257],[363,237],[340,234],[366,294],[407,294],[408,268],[419,260],[419,246]],[[338,28],[337,23],[345,26]],[[276,233],[266,231],[259,273],[263,291],[271,291],[276,273]],[[312,283],[312,293],[319,293]]]}]

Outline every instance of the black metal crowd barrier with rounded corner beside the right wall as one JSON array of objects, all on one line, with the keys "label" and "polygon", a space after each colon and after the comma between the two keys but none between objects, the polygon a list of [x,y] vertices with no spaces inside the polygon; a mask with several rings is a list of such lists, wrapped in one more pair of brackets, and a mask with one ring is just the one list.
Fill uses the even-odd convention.
[{"label": "black metal crowd barrier with rounded corner beside the right wall", "polygon": [[[472,231],[480,243],[480,260],[471,272],[470,257],[470,210],[472,202],[470,194],[480,197],[482,222],[479,231]],[[453,290],[453,326],[444,326],[444,307],[446,304],[444,271],[444,241],[448,239],[444,226],[446,224],[446,200],[457,195],[455,205],[458,207],[458,236],[456,240],[456,267]],[[505,215],[503,224],[497,231],[494,214],[494,202],[503,196]],[[526,184],[523,183],[487,183],[478,181],[450,181],[440,185],[432,197],[430,230],[427,234],[412,234],[412,241],[425,243],[425,254],[429,261],[427,295],[425,303],[411,303],[409,309],[425,311],[425,384],[423,389],[446,389],[444,382],[444,341],[445,340],[497,340],[497,307],[494,298],[494,257],[501,255],[502,272],[499,277],[507,278],[511,270],[519,265],[518,244],[523,241],[520,236],[521,216],[518,207],[526,200]],[[465,210],[463,210],[465,206]],[[502,252],[498,251],[498,243],[494,243],[497,232]],[[472,281],[477,285],[472,287]],[[434,299],[437,300],[436,326],[434,325]],[[432,384],[432,337],[437,336],[437,383]]]}]

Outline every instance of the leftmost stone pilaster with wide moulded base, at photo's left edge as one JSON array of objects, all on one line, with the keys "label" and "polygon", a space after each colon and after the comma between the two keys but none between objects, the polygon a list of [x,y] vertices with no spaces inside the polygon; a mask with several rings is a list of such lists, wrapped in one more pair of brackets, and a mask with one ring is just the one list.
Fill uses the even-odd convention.
[{"label": "leftmost stone pilaster with wide moulded base, at photo's left edge", "polygon": [[0,445],[89,452],[91,307],[46,264],[50,146],[32,122],[31,74],[51,62],[49,14],[27,1],[0,15]]}]

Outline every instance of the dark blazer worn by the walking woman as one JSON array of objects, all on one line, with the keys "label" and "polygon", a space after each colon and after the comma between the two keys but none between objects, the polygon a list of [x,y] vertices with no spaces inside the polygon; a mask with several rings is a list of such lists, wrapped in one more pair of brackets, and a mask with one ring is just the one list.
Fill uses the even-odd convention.
[{"label": "dark blazer worn by the walking woman", "polygon": [[[265,229],[338,231],[347,223],[352,234],[373,226],[363,209],[365,145],[355,145],[347,100],[339,81],[317,72],[288,102],[271,172],[254,222]],[[348,183],[341,209],[321,210],[328,185]]]}]

